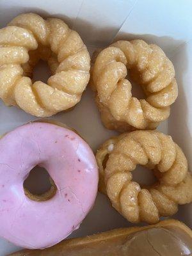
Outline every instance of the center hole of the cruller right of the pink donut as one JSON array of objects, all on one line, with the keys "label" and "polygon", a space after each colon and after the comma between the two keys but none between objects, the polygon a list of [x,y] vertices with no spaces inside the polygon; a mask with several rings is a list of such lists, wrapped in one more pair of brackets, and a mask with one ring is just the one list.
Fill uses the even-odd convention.
[{"label": "center hole of the cruller right of the pink donut", "polygon": [[136,169],[132,171],[132,180],[138,182],[141,188],[151,186],[157,182],[157,178],[154,175],[153,170],[141,165],[137,165]]}]

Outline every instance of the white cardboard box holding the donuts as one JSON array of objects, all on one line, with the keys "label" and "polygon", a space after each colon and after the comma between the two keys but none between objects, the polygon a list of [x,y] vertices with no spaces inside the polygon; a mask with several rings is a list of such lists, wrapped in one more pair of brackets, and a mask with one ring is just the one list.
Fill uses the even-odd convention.
[{"label": "white cardboard box holding the donuts", "polygon": [[[162,47],[175,67],[179,97],[171,107],[170,118],[159,125],[158,130],[173,137],[188,158],[189,169],[192,168],[192,1],[0,0],[0,28],[6,26],[13,17],[25,12],[65,20],[70,28],[79,32],[90,53],[119,39],[141,38]],[[47,68],[42,63],[34,73],[36,80],[46,81],[49,77]],[[0,134],[36,119],[21,109],[4,106],[0,100]],[[76,108],[67,113],[58,113],[51,119],[76,129],[94,152],[104,140],[116,134],[102,126],[90,88],[86,89]],[[140,167],[134,172],[134,178],[140,182],[152,182],[153,179],[149,171]],[[42,176],[42,182],[43,180]],[[31,184],[33,185],[35,184]],[[42,188],[46,186],[43,182]],[[192,227],[191,211],[192,204],[182,205],[173,218]],[[111,207],[108,198],[98,193],[92,211],[79,230],[70,237],[86,236],[130,225],[132,224]],[[0,238],[0,256],[19,249]]]}]

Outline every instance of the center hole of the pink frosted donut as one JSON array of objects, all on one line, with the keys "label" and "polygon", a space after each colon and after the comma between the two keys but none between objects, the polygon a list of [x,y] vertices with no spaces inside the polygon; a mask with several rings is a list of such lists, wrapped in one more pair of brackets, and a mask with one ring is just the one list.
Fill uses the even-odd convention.
[{"label": "center hole of the pink frosted donut", "polygon": [[24,192],[29,199],[45,201],[51,199],[56,193],[56,185],[45,168],[35,166],[26,180],[24,180]]}]

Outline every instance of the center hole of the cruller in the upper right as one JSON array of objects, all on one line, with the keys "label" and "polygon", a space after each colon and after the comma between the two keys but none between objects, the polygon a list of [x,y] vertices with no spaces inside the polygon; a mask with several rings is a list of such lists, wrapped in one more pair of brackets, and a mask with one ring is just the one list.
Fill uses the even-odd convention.
[{"label": "center hole of the cruller in the upper right", "polygon": [[138,100],[145,99],[145,92],[143,91],[143,88],[140,84],[140,81],[138,81],[137,77],[139,77],[139,74],[136,74],[136,70],[128,70],[127,77],[125,78],[131,83],[132,97],[136,97]]}]

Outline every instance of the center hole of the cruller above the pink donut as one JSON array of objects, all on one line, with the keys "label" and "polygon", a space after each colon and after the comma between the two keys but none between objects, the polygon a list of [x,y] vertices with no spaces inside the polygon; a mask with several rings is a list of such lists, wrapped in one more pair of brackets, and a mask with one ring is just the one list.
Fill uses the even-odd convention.
[{"label": "center hole of the cruller above the pink donut", "polygon": [[33,69],[33,80],[47,83],[50,76],[51,70],[47,64],[47,61],[39,60]]}]

